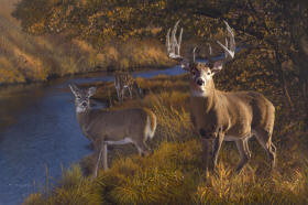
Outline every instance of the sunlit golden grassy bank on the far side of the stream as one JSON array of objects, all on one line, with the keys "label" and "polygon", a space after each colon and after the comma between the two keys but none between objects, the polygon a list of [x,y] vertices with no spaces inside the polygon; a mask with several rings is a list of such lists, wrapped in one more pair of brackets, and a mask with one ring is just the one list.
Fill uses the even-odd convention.
[{"label": "sunlit golden grassy bank on the far side of the stream", "polygon": [[96,71],[135,71],[170,65],[164,45],[153,40],[107,42],[105,46],[94,48],[84,41],[70,41],[61,35],[28,35],[10,15],[15,2],[1,0],[0,85],[44,82]]}]

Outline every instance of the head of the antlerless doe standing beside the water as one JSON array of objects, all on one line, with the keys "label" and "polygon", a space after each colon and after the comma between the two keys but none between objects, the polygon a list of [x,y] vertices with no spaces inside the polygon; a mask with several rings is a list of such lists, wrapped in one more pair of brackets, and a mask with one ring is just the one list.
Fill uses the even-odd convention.
[{"label": "head of the antlerless doe standing beside the water", "polygon": [[75,96],[75,105],[77,112],[84,112],[90,108],[90,97],[96,93],[96,87],[90,87],[88,89],[81,89],[75,84],[70,84],[69,88]]}]

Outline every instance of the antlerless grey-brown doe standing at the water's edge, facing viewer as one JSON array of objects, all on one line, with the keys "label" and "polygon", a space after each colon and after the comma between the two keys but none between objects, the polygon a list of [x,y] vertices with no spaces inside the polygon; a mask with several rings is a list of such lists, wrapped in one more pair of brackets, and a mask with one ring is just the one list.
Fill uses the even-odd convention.
[{"label": "antlerless grey-brown doe standing at the water's edge, facing viewer", "polygon": [[76,116],[84,134],[95,147],[97,176],[99,162],[102,159],[103,169],[108,169],[107,145],[133,143],[141,155],[147,154],[150,149],[146,140],[152,139],[156,129],[156,116],[148,109],[134,108],[105,111],[90,108],[90,97],[96,88],[78,88],[69,85],[75,95]]}]

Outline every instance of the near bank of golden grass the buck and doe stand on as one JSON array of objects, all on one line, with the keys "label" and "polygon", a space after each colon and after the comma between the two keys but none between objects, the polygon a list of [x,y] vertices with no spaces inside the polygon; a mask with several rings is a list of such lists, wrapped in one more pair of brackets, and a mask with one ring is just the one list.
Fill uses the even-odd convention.
[{"label": "near bank of golden grass the buck and doe stand on", "polygon": [[217,173],[205,176],[201,147],[189,120],[187,75],[139,78],[145,97],[123,105],[117,102],[112,83],[98,83],[95,98],[109,101],[110,109],[144,106],[157,115],[154,153],[140,158],[132,145],[114,147],[109,154],[111,169],[100,171],[95,181],[82,174],[92,169],[91,155],[86,157],[64,172],[55,188],[38,188],[24,204],[307,204],[308,141],[300,111],[305,105],[296,87],[292,97],[298,111],[290,111],[272,74],[226,69],[216,80],[220,89],[252,88],[274,102],[277,169],[273,173],[265,151],[251,140],[253,157],[241,174],[233,172],[240,160],[234,143],[224,142]]}]

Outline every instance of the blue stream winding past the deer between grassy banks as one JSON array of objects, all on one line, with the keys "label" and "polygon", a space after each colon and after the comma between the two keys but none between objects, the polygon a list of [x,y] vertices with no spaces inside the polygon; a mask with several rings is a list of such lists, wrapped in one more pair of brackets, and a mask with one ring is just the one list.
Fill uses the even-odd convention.
[{"label": "blue stream winding past the deer between grassy banks", "polygon": [[[134,73],[134,77],[179,75],[173,67]],[[91,151],[75,116],[69,83],[111,82],[112,76],[91,74],[54,80],[45,85],[14,88],[0,93],[0,205],[20,204],[43,185],[46,170],[51,182]]]}]

